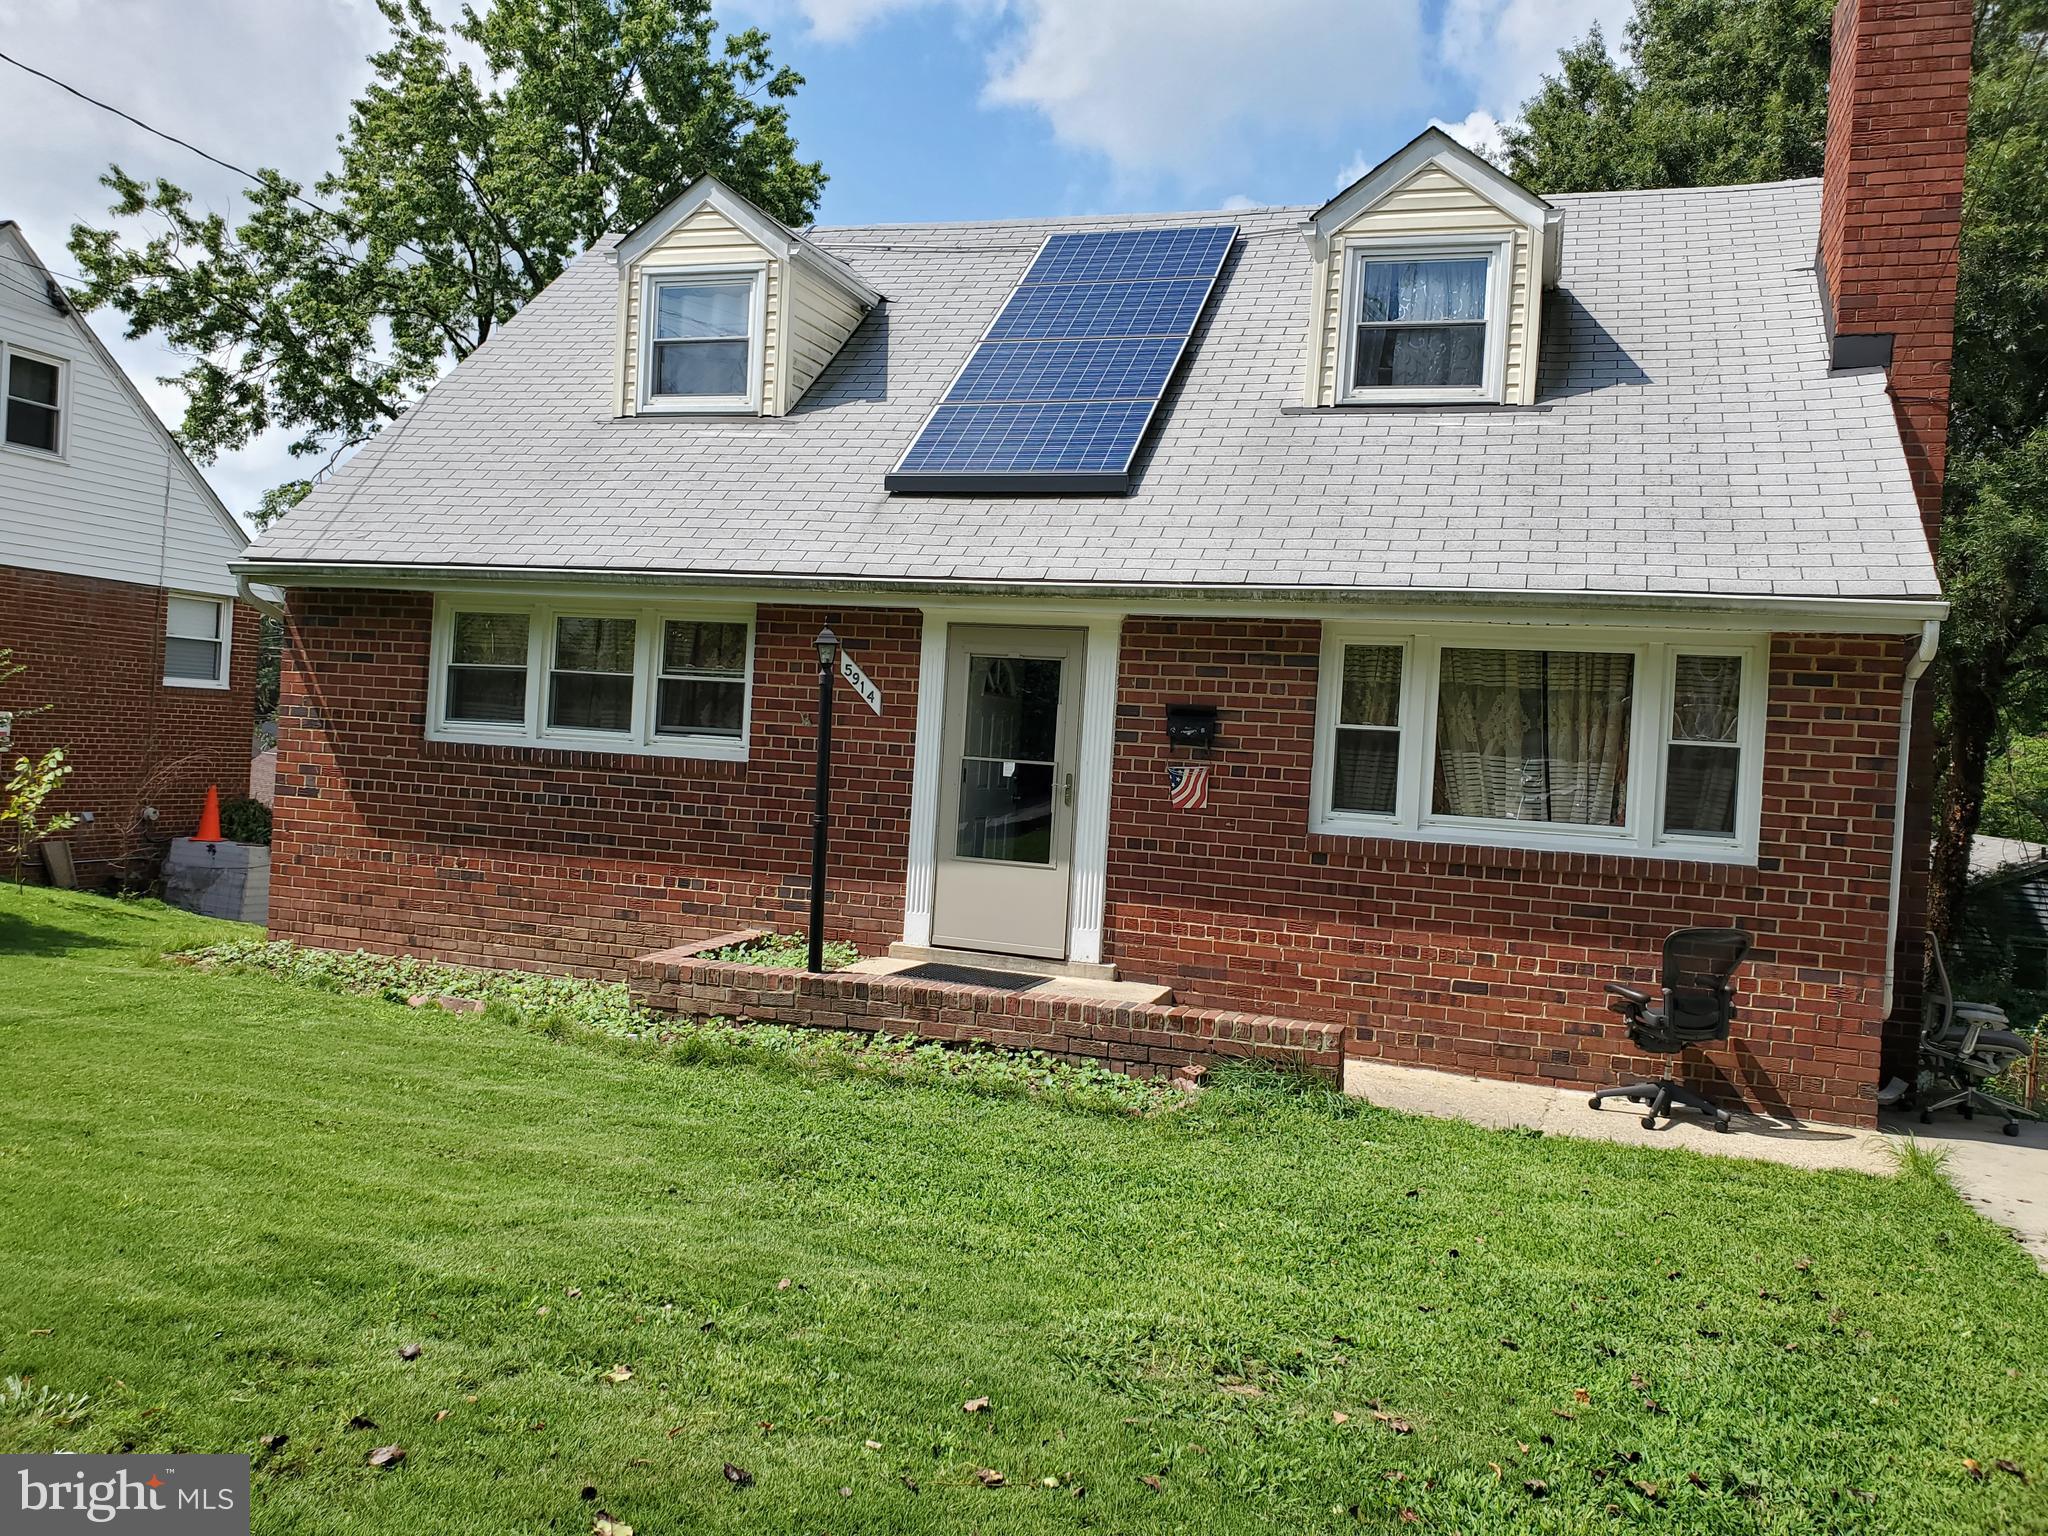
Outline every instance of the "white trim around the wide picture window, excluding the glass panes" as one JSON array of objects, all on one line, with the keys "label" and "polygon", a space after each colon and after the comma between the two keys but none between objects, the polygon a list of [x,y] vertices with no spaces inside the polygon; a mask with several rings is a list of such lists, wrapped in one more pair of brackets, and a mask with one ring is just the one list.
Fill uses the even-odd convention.
[{"label": "white trim around the wide picture window, excluding the glass panes", "polygon": [[[1343,694],[1346,645],[1399,645],[1401,756],[1395,813],[1335,811],[1337,711]],[[1634,657],[1628,717],[1626,823],[1573,827],[1556,821],[1493,821],[1430,811],[1436,784],[1438,674],[1444,647],[1505,651],[1608,651]],[[1743,662],[1737,725],[1737,807],[1733,838],[1663,831],[1665,756],[1671,745],[1671,686],[1679,655],[1735,655]],[[1552,629],[1548,625],[1487,625],[1397,629],[1391,625],[1323,625],[1323,657],[1315,700],[1309,829],[1337,838],[1399,838],[1405,842],[1475,848],[1532,848],[1634,858],[1690,858],[1714,864],[1755,864],[1763,805],[1763,721],[1769,688],[1769,635],[1690,635],[1671,631]]]}]

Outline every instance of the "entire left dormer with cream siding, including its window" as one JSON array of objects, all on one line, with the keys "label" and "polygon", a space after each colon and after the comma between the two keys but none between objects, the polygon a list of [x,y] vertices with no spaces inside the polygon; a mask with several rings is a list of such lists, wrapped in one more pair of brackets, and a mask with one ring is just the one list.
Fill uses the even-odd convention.
[{"label": "entire left dormer with cream siding, including its window", "polygon": [[690,182],[612,260],[621,416],[784,416],[881,303],[717,176]]}]

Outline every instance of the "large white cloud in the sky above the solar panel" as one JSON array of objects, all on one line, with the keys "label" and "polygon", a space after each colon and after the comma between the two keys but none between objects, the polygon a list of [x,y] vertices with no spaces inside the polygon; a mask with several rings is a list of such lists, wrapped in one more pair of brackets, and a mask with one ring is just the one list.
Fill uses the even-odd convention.
[{"label": "large white cloud in the sky above the solar panel", "polygon": [[[1241,137],[1329,131],[1421,98],[1415,0],[1020,0],[985,100],[1038,111],[1053,137],[1126,176],[1241,168]],[[1380,59],[1370,92],[1362,59]]]}]

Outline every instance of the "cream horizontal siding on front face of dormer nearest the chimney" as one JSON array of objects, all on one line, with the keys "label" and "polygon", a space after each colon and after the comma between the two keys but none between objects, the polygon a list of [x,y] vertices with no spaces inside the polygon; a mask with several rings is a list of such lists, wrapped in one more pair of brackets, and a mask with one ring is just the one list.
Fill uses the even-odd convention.
[{"label": "cream horizontal siding on front face of dormer nearest the chimney", "polygon": [[1507,375],[1503,399],[1511,406],[1536,401],[1536,330],[1542,299],[1536,293],[1534,240],[1528,225],[1495,207],[1442,166],[1423,166],[1401,186],[1352,219],[1329,242],[1329,258],[1317,281],[1311,319],[1311,397],[1335,406],[1343,395],[1337,369],[1343,358],[1343,274],[1348,248],[1368,240],[1438,240],[1444,236],[1516,236],[1513,272],[1507,287]]}]

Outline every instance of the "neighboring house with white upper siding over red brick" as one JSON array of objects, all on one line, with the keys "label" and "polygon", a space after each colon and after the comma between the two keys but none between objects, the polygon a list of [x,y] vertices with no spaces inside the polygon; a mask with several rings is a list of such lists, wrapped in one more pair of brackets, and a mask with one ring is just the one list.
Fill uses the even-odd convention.
[{"label": "neighboring house with white upper siding over red brick", "polygon": [[66,750],[49,809],[86,817],[63,834],[80,883],[145,874],[207,784],[248,791],[248,535],[6,221],[0,393],[0,649],[27,666],[0,756]]}]

